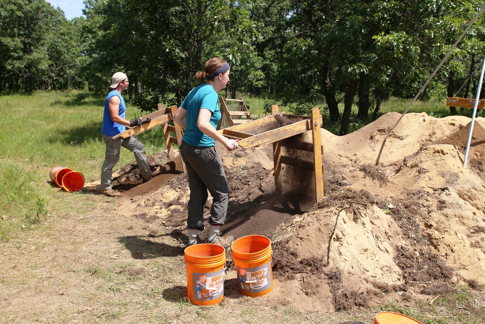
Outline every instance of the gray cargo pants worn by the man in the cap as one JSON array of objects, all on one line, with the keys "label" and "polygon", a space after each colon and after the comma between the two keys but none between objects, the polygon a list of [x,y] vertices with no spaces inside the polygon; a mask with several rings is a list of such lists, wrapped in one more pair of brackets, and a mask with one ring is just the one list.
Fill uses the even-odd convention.
[{"label": "gray cargo pants worn by the man in the cap", "polygon": [[135,154],[135,161],[138,164],[138,169],[142,176],[146,176],[150,173],[150,166],[146,159],[145,147],[135,136],[129,136],[128,138],[118,137],[113,139],[113,136],[104,135],[104,142],[106,143],[106,153],[101,167],[101,188],[111,188],[111,178],[113,176],[113,168],[120,159],[120,150],[123,146],[125,149]]}]

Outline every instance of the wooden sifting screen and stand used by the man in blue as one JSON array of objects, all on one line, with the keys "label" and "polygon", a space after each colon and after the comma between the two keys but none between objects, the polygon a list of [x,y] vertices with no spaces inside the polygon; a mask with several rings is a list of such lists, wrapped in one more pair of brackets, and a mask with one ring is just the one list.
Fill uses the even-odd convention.
[{"label": "wooden sifting screen and stand used by the man in blue", "polygon": [[[176,122],[174,122],[174,126],[169,125],[168,122],[173,120],[173,116],[177,111],[177,106],[173,105],[171,107],[164,108],[162,103],[158,104],[158,111],[150,113],[146,116],[143,116],[141,119],[151,119],[149,122],[144,123],[140,126],[135,126],[133,128],[127,129],[123,133],[120,133],[116,136],[113,136],[113,139],[118,137],[127,138],[129,136],[138,135],[150,130],[152,128],[163,126],[163,135],[165,136],[165,143],[167,144],[167,151],[168,151],[168,158],[170,161],[175,160],[175,152],[173,148],[173,144],[178,145],[182,143],[182,136],[183,131],[180,126]],[[175,133],[176,137],[173,137],[170,132]],[[185,163],[182,162],[183,172],[187,173],[185,168]]]}]

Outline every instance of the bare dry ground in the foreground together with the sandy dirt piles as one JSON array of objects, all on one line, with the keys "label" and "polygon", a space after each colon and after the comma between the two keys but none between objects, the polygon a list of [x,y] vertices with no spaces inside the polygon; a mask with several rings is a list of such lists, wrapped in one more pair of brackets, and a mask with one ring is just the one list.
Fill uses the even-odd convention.
[{"label": "bare dry ground in the foreground together with the sandy dirt piles", "polygon": [[87,183],[88,217],[56,220],[47,239],[7,243],[18,253],[3,255],[1,270],[16,284],[0,281],[0,315],[6,323],[372,323],[360,307],[432,303],[456,287],[468,287],[483,310],[485,120],[476,119],[466,169],[470,119],[424,113],[401,120],[376,165],[400,116],[346,136],[322,129],[325,196],[316,204],[311,170],[285,166],[284,194],[275,195],[271,145],[217,146],[231,190],[223,234],[272,241],[275,285],[266,296],[240,295],[228,253],[223,303],[180,302],[189,190],[180,159],[162,152],[149,157],[157,173],[147,182],[136,164],[116,173],[118,198]]}]

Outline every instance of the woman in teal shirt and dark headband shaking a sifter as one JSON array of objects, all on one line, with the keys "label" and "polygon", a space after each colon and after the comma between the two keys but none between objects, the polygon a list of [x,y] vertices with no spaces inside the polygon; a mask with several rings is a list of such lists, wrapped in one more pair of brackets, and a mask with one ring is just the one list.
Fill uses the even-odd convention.
[{"label": "woman in teal shirt and dark headband shaking a sifter", "polygon": [[225,60],[213,57],[207,61],[204,71],[195,74],[197,79],[207,79],[207,82],[192,89],[174,114],[174,121],[185,129],[180,155],[187,168],[190,188],[187,215],[189,246],[200,242],[199,231],[204,230],[204,205],[208,191],[213,200],[207,242],[229,247],[234,241],[232,235],[219,236],[220,226],[226,220],[229,187],[224,166],[215,149],[215,141],[223,143],[228,150],[238,148],[238,140],[229,139],[216,130],[221,119],[217,91],[226,87],[229,72],[230,67]]}]

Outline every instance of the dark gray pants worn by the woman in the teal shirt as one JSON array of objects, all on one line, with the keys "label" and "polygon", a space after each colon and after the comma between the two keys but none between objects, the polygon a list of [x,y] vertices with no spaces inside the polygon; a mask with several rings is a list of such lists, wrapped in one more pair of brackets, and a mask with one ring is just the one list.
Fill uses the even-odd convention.
[{"label": "dark gray pants worn by the woman in the teal shirt", "polygon": [[221,157],[214,146],[192,146],[182,141],[180,155],[187,168],[190,198],[187,226],[202,231],[204,229],[204,205],[209,190],[212,196],[210,225],[224,225],[229,203],[229,187]]}]

